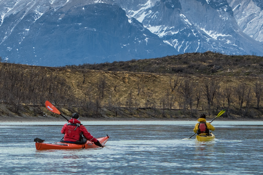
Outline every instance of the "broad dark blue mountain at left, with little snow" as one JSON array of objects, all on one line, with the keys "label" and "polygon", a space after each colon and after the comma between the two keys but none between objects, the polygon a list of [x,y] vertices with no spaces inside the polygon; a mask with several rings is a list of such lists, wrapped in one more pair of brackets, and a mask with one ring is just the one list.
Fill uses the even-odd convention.
[{"label": "broad dark blue mountain at left, with little snow", "polygon": [[[13,13],[6,13],[0,23],[3,58],[60,66],[178,54],[117,4],[44,2],[27,11],[14,6]],[[40,6],[44,8],[37,9]]]}]

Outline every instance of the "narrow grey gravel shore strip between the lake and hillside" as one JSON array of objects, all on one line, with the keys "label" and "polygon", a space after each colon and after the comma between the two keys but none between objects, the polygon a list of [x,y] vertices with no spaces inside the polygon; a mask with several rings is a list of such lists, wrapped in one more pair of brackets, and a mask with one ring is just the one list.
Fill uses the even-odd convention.
[{"label": "narrow grey gravel shore strip between the lake and hillside", "polygon": [[[66,116],[67,117],[67,116]],[[67,117],[70,119],[70,117]],[[88,122],[88,121],[197,121],[198,118],[185,118],[185,117],[177,117],[177,118],[126,118],[126,117],[80,117],[79,121]],[[209,122],[213,118],[207,117],[206,121]],[[217,118],[217,121],[263,121],[263,118]],[[35,117],[20,117],[20,116],[0,116],[0,123],[4,122],[67,122],[63,117],[54,117],[51,115],[47,116],[35,116]]]}]

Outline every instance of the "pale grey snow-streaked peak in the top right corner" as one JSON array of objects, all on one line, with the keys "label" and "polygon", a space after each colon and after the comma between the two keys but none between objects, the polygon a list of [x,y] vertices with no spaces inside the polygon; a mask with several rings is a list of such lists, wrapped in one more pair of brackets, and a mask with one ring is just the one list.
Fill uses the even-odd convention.
[{"label": "pale grey snow-streaked peak in the top right corner", "polygon": [[263,0],[227,0],[241,30],[263,44]]}]

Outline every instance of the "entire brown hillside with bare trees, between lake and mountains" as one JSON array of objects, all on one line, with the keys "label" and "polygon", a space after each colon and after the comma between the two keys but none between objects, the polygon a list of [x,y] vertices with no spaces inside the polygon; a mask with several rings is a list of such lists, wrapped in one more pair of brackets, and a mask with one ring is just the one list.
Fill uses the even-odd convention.
[{"label": "entire brown hillside with bare trees, between lake and mountains", "polygon": [[[194,60],[189,55],[200,57]],[[202,55],[206,60],[201,58]],[[215,55],[220,58],[214,58]],[[208,52],[121,62],[130,68],[132,64],[145,62],[140,69],[136,69],[138,65],[134,69],[154,70],[152,73],[90,70],[85,67],[87,64],[56,68],[0,63],[0,116],[50,115],[44,107],[44,101],[49,100],[68,116],[79,112],[93,118],[171,119],[196,118],[205,113],[212,118],[226,108],[225,118],[261,118],[262,96],[257,100],[255,87],[262,82],[262,57],[243,56],[240,58],[241,62],[246,60],[243,67],[234,65],[237,58],[232,58]],[[220,63],[222,59],[229,65]],[[167,60],[175,60],[175,63]],[[219,67],[212,66],[214,63]],[[176,67],[185,69],[177,73],[169,71]],[[164,70],[167,70],[166,74],[157,73]],[[263,88],[263,84],[260,87]]]}]

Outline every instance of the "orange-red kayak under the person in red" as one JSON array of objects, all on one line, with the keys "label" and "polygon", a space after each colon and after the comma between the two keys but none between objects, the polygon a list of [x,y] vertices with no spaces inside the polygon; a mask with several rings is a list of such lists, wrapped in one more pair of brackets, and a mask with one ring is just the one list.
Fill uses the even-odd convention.
[{"label": "orange-red kayak under the person in red", "polygon": [[[106,137],[98,138],[97,140],[101,143],[102,146],[108,141],[110,137],[107,135]],[[41,140],[41,139],[40,139]],[[42,140],[43,141],[43,140]],[[89,148],[100,148],[96,146],[91,141],[86,141],[85,144],[78,145],[74,143],[44,143],[44,142],[36,142],[36,149],[37,150],[51,150],[51,149],[89,149]]]}]

